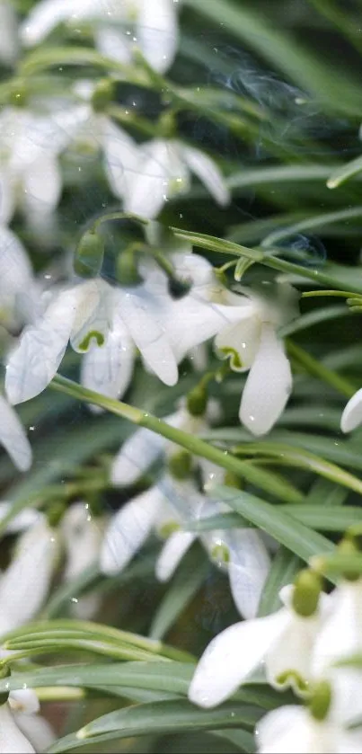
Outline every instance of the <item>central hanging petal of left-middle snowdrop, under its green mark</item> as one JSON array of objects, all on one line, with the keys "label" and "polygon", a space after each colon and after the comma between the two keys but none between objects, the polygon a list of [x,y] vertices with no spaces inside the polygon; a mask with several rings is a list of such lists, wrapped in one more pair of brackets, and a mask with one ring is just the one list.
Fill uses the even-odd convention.
[{"label": "central hanging petal of left-middle snowdrop, under its green mark", "polygon": [[81,382],[89,390],[120,398],[133,375],[135,353],[126,329],[117,324],[100,348],[93,344],[82,359]]}]

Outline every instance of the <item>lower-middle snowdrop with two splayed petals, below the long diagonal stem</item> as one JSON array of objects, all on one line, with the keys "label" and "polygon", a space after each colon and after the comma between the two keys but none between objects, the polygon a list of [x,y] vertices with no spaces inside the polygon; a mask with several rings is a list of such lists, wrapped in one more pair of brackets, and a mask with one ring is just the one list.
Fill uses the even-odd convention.
[{"label": "lower-middle snowdrop with two splayed petals, below the long diagonal stem", "polygon": [[[224,483],[225,471],[204,459],[199,459],[204,490],[210,489],[211,499],[201,494],[196,483],[185,490],[189,498],[184,501],[185,513],[182,524],[187,528],[194,520],[205,519],[228,510],[217,499],[212,499],[212,486]],[[190,485],[189,485],[190,486]],[[168,581],[175,572],[183,555],[199,538],[211,560],[227,572],[233,599],[239,612],[246,618],[255,617],[262,588],[269,573],[269,554],[260,534],[252,528],[233,531],[212,531],[203,535],[182,529],[172,532],[166,540],[156,563],[156,576]]]}]

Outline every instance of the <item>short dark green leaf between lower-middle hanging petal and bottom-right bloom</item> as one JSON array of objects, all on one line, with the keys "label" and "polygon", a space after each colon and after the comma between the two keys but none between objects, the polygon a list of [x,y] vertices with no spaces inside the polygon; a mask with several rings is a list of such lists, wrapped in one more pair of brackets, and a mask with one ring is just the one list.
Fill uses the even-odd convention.
[{"label": "short dark green leaf between lower-middle hanging petal and bottom-right bloom", "polygon": [[300,571],[302,566],[303,563],[300,558],[290,553],[286,547],[279,547],[262,590],[258,608],[259,617],[269,616],[270,613],[274,613],[281,607],[282,603],[278,592],[282,587],[294,581],[296,573]]}]

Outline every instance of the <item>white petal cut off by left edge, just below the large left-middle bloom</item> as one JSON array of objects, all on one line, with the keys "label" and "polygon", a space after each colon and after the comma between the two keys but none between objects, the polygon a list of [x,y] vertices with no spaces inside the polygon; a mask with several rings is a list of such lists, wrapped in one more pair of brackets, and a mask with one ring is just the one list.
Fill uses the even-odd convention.
[{"label": "white petal cut off by left edge, just below the large left-middle bloom", "polygon": [[0,395],[0,444],[20,471],[31,467],[31,444],[13,407]]}]

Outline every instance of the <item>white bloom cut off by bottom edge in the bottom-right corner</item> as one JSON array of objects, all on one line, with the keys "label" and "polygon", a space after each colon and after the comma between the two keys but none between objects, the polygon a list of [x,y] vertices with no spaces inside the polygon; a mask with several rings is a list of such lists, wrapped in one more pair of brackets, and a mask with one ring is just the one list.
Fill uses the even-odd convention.
[{"label": "white bloom cut off by bottom edge in the bottom-right corner", "polygon": [[260,720],[256,742],[259,754],[358,754],[362,732],[336,725],[329,716],[316,720],[307,709],[290,705]]}]

